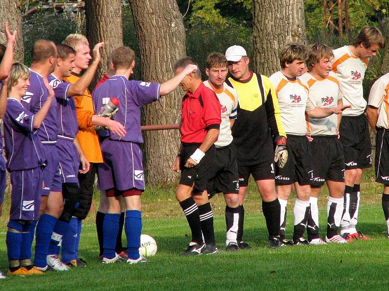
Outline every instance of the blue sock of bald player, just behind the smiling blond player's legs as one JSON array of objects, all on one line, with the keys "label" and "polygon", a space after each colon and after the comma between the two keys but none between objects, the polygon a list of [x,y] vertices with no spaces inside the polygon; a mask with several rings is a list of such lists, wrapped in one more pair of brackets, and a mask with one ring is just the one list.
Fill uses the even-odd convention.
[{"label": "blue sock of bald player, just behind the smiling blond player's legs", "polygon": [[49,214],[43,214],[39,218],[36,225],[34,266],[46,267],[46,257],[56,222],[57,218]]}]

